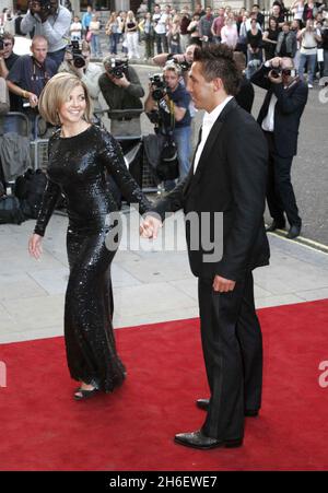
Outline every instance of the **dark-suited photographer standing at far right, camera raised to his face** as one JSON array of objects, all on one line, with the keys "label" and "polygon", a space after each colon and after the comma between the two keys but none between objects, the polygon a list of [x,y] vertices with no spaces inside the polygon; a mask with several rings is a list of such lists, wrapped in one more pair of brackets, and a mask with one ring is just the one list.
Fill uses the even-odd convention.
[{"label": "dark-suited photographer standing at far right, camera raised to his face", "polygon": [[258,115],[269,144],[267,200],[273,219],[267,231],[284,228],[284,212],[290,223],[289,238],[301,233],[295,193],[291,183],[293,156],[297,153],[301,116],[307,102],[307,85],[296,75],[291,58],[272,58],[250,78],[268,92]]}]

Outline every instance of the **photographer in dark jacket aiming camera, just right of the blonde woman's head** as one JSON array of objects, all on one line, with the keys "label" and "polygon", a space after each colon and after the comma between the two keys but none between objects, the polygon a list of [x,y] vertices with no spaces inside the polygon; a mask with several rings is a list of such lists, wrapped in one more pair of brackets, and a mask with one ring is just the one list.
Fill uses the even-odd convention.
[{"label": "photographer in dark jacket aiming camera, just right of the blonde woman's head", "polygon": [[[144,91],[128,60],[106,57],[103,63],[105,73],[98,83],[109,109],[142,109]],[[112,119],[110,131],[116,136],[141,134],[140,117]]]}]

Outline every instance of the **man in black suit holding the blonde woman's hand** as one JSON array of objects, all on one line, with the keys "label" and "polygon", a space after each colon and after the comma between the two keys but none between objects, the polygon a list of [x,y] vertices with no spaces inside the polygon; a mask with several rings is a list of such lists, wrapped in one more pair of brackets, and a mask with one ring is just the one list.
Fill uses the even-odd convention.
[{"label": "man in black suit holding the blonde woman's hand", "polygon": [[[227,46],[195,52],[188,90],[196,107],[206,109],[201,138],[188,176],[154,208],[162,221],[165,212],[184,209],[187,220],[196,215],[199,223],[194,227],[192,220],[186,221],[186,235],[190,267],[199,278],[211,397],[197,401],[208,408],[201,429],[180,433],[175,442],[200,449],[242,445],[245,414],[256,415],[261,404],[262,343],[251,270],[269,262],[262,219],[268,151],[258,125],[233,97],[238,84]],[[214,251],[220,218],[221,258]],[[148,215],[143,236],[156,237],[161,224]],[[210,238],[215,240],[208,248]]]}]

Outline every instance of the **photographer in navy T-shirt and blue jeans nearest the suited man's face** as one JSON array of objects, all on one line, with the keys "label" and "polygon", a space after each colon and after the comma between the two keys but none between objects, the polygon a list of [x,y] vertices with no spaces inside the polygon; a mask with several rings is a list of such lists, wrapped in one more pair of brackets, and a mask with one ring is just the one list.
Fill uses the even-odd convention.
[{"label": "photographer in navy T-shirt and blue jeans nearest the suited man's face", "polygon": [[[177,146],[179,180],[181,180],[190,168],[190,94],[184,84],[179,82],[180,70],[174,63],[164,67],[163,77],[163,84],[156,81],[155,83],[150,83],[150,92],[144,102],[144,110],[152,121],[154,114],[157,115],[159,122],[156,125],[159,132],[163,134],[172,132]],[[165,184],[165,188],[171,188],[171,185],[173,184]]]}]

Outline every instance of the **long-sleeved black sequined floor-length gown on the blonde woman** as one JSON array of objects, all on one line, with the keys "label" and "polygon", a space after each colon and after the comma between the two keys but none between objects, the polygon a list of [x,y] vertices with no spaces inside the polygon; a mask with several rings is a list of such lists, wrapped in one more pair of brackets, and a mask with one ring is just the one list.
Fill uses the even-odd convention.
[{"label": "long-sleeved black sequined floor-length gown on the blonde woman", "polygon": [[[71,138],[59,131],[49,140],[48,184],[35,233],[44,236],[56,202],[67,200],[67,251],[70,277],[65,305],[65,340],[72,378],[112,391],[125,378],[113,333],[110,263],[116,249],[105,245],[110,212],[117,210],[106,180],[110,174],[140,212],[150,209],[128,173],[120,146],[91,126]],[[109,215],[108,215],[109,214]]]}]

